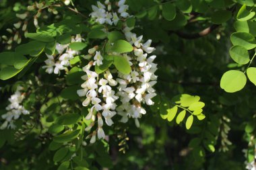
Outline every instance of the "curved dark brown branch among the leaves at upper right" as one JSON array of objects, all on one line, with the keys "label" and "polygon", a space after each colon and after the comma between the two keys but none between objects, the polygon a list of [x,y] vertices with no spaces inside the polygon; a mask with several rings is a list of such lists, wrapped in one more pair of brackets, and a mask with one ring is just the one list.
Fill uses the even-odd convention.
[{"label": "curved dark brown branch among the leaves at upper right", "polygon": [[202,30],[201,32],[198,33],[194,33],[194,34],[189,34],[186,32],[174,32],[175,34],[177,34],[179,37],[181,38],[185,38],[185,39],[196,39],[196,38],[201,38],[203,36],[207,36],[208,34],[210,34],[211,32],[213,32],[214,30],[216,30],[216,28],[218,28],[220,25],[212,25],[208,28],[205,28],[204,30]]}]

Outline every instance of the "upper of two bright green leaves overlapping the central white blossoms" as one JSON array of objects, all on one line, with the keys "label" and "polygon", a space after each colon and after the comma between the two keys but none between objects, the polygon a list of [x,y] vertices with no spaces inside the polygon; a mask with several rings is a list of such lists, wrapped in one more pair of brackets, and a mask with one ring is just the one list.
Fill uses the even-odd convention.
[{"label": "upper of two bright green leaves overlapping the central white blossoms", "polygon": [[110,50],[119,53],[131,52],[133,50],[133,46],[125,40],[117,40],[113,46],[111,46]]}]

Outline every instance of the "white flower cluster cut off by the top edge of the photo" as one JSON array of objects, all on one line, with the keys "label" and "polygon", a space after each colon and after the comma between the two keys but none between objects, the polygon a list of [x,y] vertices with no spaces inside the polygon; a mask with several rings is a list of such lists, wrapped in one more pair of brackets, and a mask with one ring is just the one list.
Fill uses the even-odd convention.
[{"label": "white flower cluster cut off by the top edge of the photo", "polygon": [[[117,26],[117,23],[119,22],[118,14],[116,12],[110,12],[112,7],[109,0],[106,0],[104,3],[107,5],[107,7],[104,4],[100,3],[100,1],[97,1],[97,6],[92,5],[93,12],[90,13],[90,16],[92,18],[95,18],[96,22],[100,24],[114,24],[115,26]],[[117,7],[119,7],[118,13],[120,13],[121,17],[129,17],[129,13],[127,13],[129,6],[125,5],[125,0],[119,1],[117,3]],[[106,9],[108,11],[106,11]]]}]

